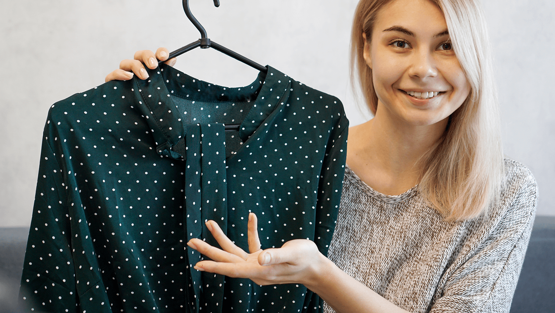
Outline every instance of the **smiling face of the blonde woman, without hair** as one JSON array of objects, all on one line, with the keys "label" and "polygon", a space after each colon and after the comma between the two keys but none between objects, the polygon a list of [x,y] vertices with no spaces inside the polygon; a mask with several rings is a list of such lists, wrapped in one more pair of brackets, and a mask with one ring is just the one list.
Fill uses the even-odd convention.
[{"label": "smiling face of the blonde woman, without hair", "polygon": [[443,13],[428,0],[395,0],[382,8],[364,58],[378,97],[376,117],[414,126],[446,122],[470,93]]}]

